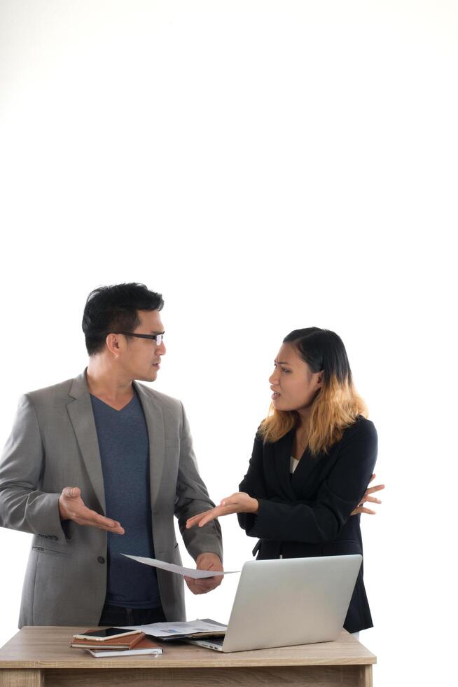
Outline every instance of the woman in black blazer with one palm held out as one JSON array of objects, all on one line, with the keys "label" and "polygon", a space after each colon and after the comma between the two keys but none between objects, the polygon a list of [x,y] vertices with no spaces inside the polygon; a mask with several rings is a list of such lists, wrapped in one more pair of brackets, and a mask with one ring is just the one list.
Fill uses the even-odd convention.
[{"label": "woman in black blazer with one palm held out", "polygon": [[[377,432],[352,382],[345,346],[328,329],[295,329],[270,376],[272,404],[254,440],[240,491],[188,520],[203,526],[236,512],[258,559],[362,554],[365,501],[375,477]],[[344,627],[372,627],[359,571]]]}]

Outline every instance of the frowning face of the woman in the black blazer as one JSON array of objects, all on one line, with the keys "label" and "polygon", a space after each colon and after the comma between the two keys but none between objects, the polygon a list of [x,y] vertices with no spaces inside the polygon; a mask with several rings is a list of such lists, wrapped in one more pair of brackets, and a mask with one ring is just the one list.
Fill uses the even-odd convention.
[{"label": "frowning face of the woman in the black blazer", "polygon": [[312,372],[293,344],[282,344],[274,365],[269,377],[273,407],[300,410],[310,406],[323,384],[323,372]]}]

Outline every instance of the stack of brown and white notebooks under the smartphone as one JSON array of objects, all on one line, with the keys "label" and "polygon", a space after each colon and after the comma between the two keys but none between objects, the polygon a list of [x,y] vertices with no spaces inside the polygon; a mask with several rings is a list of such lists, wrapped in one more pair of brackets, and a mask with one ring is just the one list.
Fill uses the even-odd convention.
[{"label": "stack of brown and white notebooks under the smartphone", "polygon": [[104,639],[93,639],[84,637],[97,630],[87,630],[81,634],[74,634],[71,639],[71,648],[85,649],[95,658],[111,658],[112,656],[126,655],[158,655],[162,653],[162,648],[146,637],[144,632],[134,632],[125,634],[121,637],[106,637]]}]

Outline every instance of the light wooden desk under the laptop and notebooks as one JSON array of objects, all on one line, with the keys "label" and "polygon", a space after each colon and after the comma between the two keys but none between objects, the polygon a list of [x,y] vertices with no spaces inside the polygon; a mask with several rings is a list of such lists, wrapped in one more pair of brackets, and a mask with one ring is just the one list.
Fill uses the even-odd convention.
[{"label": "light wooden desk under the laptop and notebooks", "polygon": [[375,656],[342,630],[337,641],[221,653],[162,644],[161,656],[93,658],[69,648],[87,627],[22,627],[0,649],[1,687],[372,687]]}]

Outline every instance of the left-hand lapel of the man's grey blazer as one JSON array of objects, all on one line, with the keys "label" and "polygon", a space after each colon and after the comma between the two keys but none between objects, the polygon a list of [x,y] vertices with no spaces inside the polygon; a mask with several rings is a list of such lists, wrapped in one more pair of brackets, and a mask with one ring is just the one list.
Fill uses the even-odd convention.
[{"label": "left-hand lapel of the man's grey blazer", "polygon": [[67,411],[92,488],[95,491],[95,496],[97,496],[102,513],[105,515],[104,477],[102,474],[102,462],[100,461],[97,430],[95,429],[94,414],[86,381],[86,371],[74,379],[69,395],[74,400],[67,404]]}]

